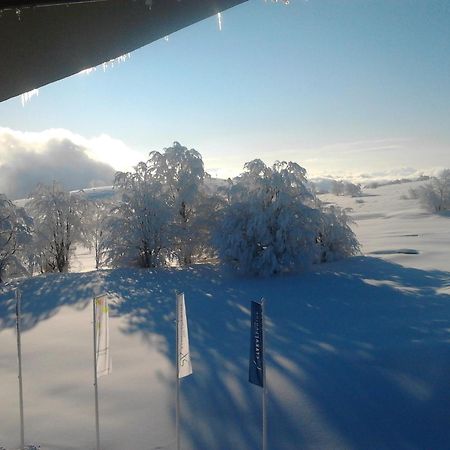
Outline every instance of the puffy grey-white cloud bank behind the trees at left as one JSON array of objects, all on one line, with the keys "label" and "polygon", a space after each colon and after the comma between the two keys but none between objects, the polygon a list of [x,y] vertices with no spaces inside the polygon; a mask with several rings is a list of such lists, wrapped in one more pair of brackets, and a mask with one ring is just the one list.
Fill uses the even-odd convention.
[{"label": "puffy grey-white cloud bank behind the trees at left", "polygon": [[0,128],[0,193],[27,197],[38,183],[61,182],[68,190],[111,185],[115,169],[91,157],[92,149],[70,133],[22,133]]}]

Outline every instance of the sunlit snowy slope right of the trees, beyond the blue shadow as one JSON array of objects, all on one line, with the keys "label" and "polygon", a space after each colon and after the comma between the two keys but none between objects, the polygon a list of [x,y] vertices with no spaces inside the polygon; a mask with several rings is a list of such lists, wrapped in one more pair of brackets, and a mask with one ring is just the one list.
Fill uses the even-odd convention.
[{"label": "sunlit snowy slope right of the trees, beyond the blue shadow", "polygon": [[[366,255],[409,267],[449,270],[450,218],[430,214],[417,199],[408,199],[408,191],[426,182],[382,186],[365,189],[365,197],[321,195],[322,201],[350,209],[355,224],[353,231]],[[396,250],[416,250],[404,254]]]}]

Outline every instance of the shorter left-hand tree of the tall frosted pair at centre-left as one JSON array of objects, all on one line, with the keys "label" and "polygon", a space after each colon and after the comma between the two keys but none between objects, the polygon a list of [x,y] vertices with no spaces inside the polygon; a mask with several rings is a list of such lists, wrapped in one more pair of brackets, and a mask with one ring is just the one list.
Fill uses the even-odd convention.
[{"label": "shorter left-hand tree of the tall frosted pair at centre-left", "polygon": [[140,162],[134,172],[118,172],[120,199],[106,221],[107,264],[158,267],[166,264],[170,244],[170,208],[153,167]]}]

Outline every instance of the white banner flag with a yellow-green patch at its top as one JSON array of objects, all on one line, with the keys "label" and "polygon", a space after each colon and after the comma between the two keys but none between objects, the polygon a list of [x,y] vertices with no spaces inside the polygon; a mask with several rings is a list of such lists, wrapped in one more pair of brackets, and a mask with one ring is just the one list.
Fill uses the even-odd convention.
[{"label": "white banner flag with a yellow-green patch at its top", "polygon": [[109,375],[112,371],[111,355],[109,352],[109,307],[108,296],[96,297],[95,301],[95,333],[97,376]]}]

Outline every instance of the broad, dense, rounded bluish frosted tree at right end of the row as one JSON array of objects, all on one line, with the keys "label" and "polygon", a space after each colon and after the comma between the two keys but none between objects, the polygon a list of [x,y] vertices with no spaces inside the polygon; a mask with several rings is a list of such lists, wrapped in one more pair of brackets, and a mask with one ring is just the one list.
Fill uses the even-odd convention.
[{"label": "broad, dense, rounded bluish frosted tree at right end of the row", "polygon": [[[225,263],[272,275],[356,252],[352,231],[334,211],[322,211],[304,168],[294,162],[268,167],[257,159],[244,170],[232,182],[216,233]],[[338,224],[334,236],[330,230]],[[339,248],[337,238],[345,241]]]}]

